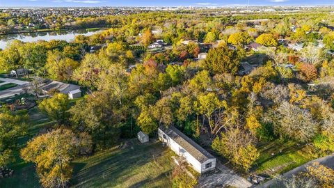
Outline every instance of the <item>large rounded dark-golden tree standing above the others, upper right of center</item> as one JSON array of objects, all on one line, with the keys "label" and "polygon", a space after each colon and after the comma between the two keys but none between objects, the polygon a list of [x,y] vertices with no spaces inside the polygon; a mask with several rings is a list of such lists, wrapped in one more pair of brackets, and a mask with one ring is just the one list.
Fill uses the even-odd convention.
[{"label": "large rounded dark-golden tree standing above the others, upper right of center", "polygon": [[207,68],[215,74],[237,74],[240,65],[237,52],[229,49],[227,45],[210,49],[205,62]]}]

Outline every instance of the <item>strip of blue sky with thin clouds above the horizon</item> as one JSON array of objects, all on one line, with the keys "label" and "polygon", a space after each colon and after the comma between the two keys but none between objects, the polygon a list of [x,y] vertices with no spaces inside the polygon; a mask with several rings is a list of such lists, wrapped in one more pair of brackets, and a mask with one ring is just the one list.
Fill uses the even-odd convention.
[{"label": "strip of blue sky with thin clouds above the horizon", "polygon": [[[249,0],[250,5],[334,5],[334,0]],[[248,0],[0,0],[0,7],[13,6],[233,6]]]}]

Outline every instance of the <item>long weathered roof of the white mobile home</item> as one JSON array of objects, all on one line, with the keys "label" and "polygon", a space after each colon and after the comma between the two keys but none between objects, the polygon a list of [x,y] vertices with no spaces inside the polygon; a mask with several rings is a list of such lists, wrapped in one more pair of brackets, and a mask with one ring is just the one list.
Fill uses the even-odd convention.
[{"label": "long weathered roof of the white mobile home", "polygon": [[207,150],[200,147],[200,145],[198,145],[188,136],[180,132],[180,130],[177,130],[177,128],[175,128],[174,126],[160,126],[159,129],[167,134],[170,139],[173,139],[173,141],[175,141],[182,148],[184,148],[186,152],[189,152],[189,154],[195,157],[199,162],[205,162],[207,161],[207,159],[214,159],[214,156],[207,152]]}]

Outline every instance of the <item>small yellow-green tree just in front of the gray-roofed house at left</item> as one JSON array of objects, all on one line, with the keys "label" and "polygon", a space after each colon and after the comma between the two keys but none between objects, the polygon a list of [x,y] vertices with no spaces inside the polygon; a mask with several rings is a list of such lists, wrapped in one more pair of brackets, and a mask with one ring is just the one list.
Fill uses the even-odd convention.
[{"label": "small yellow-green tree just in front of the gray-roofed house at left", "polygon": [[51,98],[42,100],[42,102],[38,104],[38,109],[46,113],[51,120],[56,120],[57,123],[61,125],[67,121],[69,102],[67,95],[56,93]]}]

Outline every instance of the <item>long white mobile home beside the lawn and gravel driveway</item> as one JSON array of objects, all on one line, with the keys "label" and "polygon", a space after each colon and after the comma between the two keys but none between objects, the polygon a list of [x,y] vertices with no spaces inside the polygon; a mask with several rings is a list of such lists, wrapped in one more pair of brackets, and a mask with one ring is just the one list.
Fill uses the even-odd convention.
[{"label": "long white mobile home beside the lawn and gravel driveway", "polygon": [[216,158],[177,128],[161,126],[158,133],[160,141],[166,143],[177,155],[184,157],[198,173],[215,169]]}]

